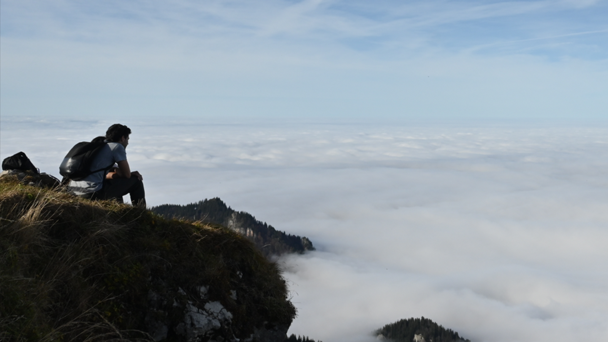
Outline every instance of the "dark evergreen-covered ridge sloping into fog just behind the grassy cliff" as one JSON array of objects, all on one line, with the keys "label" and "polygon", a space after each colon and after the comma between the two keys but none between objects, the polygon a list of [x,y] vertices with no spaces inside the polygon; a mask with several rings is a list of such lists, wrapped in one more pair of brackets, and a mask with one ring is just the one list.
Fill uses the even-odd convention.
[{"label": "dark evergreen-covered ridge sloping into fog just behind the grassy cliff", "polygon": [[285,253],[303,253],[314,250],[313,242],[306,237],[286,234],[266,222],[260,222],[249,213],[227,207],[219,198],[205,199],[187,205],[163,204],[150,208],[167,219],[188,219],[219,224],[246,236],[267,257]]}]

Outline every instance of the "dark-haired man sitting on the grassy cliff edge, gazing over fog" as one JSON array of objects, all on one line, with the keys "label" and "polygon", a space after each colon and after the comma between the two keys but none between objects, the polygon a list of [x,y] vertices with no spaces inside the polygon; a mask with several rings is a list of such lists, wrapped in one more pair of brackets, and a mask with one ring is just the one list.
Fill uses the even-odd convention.
[{"label": "dark-haired man sitting on the grassy cliff edge, gazing over fog", "polygon": [[[133,205],[145,207],[143,177],[139,172],[131,172],[126,161],[125,148],[129,145],[131,129],[116,123],[108,128],[101,151],[92,160],[91,170],[101,169],[82,180],[71,180],[68,187],[80,197],[88,199],[116,199],[123,202],[122,196],[130,194]],[[97,137],[94,140],[103,139]],[[109,165],[116,163],[108,169]],[[106,168],[106,169],[103,169]]]}]

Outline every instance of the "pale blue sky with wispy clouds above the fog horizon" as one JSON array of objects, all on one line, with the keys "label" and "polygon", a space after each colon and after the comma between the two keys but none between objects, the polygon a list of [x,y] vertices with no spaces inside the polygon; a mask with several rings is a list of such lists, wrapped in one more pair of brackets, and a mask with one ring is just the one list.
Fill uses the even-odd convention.
[{"label": "pale blue sky with wispy clouds above the fog horizon", "polygon": [[2,116],[601,119],[608,1],[10,1]]}]

